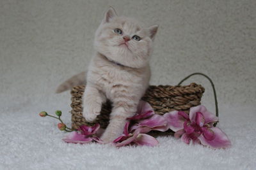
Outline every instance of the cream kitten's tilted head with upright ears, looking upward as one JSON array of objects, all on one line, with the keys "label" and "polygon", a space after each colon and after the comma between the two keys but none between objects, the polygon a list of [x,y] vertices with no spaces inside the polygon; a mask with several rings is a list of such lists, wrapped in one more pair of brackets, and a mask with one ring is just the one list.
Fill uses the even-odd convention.
[{"label": "cream kitten's tilted head with upright ears, looking upward", "polygon": [[158,25],[143,28],[140,22],[118,17],[113,8],[106,12],[95,33],[97,52],[124,66],[140,68],[148,64]]}]

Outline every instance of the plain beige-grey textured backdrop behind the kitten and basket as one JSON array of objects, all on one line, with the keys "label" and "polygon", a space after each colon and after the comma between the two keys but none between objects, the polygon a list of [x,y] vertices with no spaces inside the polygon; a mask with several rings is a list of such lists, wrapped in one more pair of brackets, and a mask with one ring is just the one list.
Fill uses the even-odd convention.
[{"label": "plain beige-grey textured backdrop behind the kitten and basket", "polygon": [[[151,84],[176,85],[190,73],[214,81],[221,104],[256,103],[256,1],[0,1],[1,112],[69,110],[54,90],[84,71],[108,6],[118,15],[159,24]],[[204,77],[203,103],[214,106]]]}]

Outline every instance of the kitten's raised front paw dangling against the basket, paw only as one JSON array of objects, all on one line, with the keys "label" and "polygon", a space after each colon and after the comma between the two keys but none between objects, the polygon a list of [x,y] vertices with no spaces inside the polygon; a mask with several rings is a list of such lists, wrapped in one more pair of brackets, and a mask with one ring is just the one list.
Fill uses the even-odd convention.
[{"label": "kitten's raised front paw dangling against the basket, paw only", "polygon": [[84,104],[83,116],[86,122],[93,122],[100,114],[101,104],[99,103],[86,103]]}]

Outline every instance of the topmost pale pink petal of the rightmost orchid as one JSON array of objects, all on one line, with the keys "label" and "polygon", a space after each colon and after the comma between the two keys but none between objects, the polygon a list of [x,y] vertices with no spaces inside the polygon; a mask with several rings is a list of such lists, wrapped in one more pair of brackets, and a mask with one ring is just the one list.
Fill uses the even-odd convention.
[{"label": "topmost pale pink petal of the rightmost orchid", "polygon": [[201,112],[204,115],[205,124],[209,124],[211,122],[215,123],[215,122],[218,122],[219,120],[218,117],[216,117],[211,112],[207,111],[205,106],[199,105],[199,106],[190,108],[189,119],[191,120],[191,122],[196,122],[196,112]]}]

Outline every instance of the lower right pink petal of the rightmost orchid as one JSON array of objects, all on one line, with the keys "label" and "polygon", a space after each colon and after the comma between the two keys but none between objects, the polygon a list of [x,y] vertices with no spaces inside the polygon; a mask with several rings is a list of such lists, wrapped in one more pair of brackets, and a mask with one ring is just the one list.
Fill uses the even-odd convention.
[{"label": "lower right pink petal of the rightmost orchid", "polygon": [[229,148],[231,146],[231,142],[221,129],[218,127],[212,127],[211,130],[214,132],[214,139],[211,141],[207,140],[204,135],[200,135],[198,139],[202,143],[202,145],[210,146],[211,148]]}]

